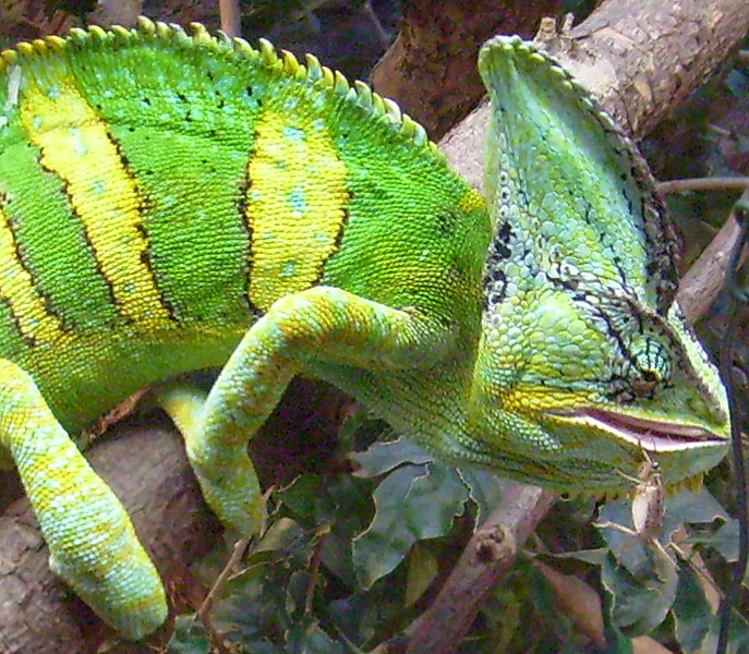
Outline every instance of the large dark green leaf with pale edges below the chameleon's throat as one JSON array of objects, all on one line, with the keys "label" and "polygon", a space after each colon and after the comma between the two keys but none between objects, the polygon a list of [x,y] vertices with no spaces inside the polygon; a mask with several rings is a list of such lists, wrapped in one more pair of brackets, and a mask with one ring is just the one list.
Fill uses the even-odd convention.
[{"label": "large dark green leaf with pale edges below the chameleon's throat", "polygon": [[385,477],[374,494],[374,520],[353,543],[362,585],[391,572],[416,541],[448,533],[467,499],[460,477],[442,463],[402,465]]}]

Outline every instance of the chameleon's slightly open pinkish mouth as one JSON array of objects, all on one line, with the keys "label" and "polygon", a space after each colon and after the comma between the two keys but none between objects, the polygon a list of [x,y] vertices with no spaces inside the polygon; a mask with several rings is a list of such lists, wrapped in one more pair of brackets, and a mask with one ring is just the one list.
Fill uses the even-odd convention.
[{"label": "chameleon's slightly open pinkish mouth", "polygon": [[548,413],[589,427],[604,429],[649,452],[724,446],[725,440],[704,427],[659,422],[602,409],[557,409]]}]

